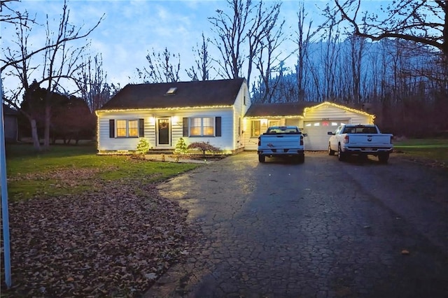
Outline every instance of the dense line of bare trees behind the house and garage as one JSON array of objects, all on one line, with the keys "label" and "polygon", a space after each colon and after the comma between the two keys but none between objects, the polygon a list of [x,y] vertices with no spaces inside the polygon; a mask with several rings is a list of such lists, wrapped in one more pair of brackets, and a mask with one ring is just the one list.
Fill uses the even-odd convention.
[{"label": "dense line of bare trees behind the house and garage", "polygon": [[[361,0],[335,0],[317,25],[302,2],[297,27],[286,31],[281,1],[227,0],[209,17],[214,35],[202,34],[187,73],[191,80],[244,77],[253,102],[333,101],[374,113],[395,134],[437,135],[448,130],[447,2],[386,2],[381,19],[362,11]],[[286,40],[295,48],[285,55]],[[286,57],[297,59],[293,69]],[[137,69],[144,82],[179,80],[179,54],[165,48],[147,59],[151,71]]]}]

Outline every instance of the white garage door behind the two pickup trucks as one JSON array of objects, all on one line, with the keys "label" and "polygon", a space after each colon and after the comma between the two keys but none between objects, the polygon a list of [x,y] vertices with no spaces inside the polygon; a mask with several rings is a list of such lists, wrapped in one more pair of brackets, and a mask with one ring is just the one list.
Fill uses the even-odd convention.
[{"label": "white garage door behind the two pickup trucks", "polygon": [[328,132],[334,132],[339,125],[347,124],[349,120],[316,120],[304,121],[303,132],[305,150],[328,150]]}]

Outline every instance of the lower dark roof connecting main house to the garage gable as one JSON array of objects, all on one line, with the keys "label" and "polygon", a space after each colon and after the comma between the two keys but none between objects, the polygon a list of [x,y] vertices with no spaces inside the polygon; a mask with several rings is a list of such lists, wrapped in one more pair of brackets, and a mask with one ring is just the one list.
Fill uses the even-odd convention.
[{"label": "lower dark roof connecting main house to the garage gable", "polygon": [[281,102],[273,104],[252,104],[246,117],[281,117],[303,115],[304,108],[321,104],[314,101]]}]

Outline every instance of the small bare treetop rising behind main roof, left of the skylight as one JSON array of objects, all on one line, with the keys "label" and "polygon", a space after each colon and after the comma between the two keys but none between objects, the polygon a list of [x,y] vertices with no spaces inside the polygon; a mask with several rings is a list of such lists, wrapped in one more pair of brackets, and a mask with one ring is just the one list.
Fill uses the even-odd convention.
[{"label": "small bare treetop rising behind main roof, left of the skylight", "polygon": [[[176,59],[176,64],[172,64],[171,59]],[[167,48],[163,52],[153,52],[146,55],[148,68],[138,69],[137,73],[145,83],[171,83],[179,81],[179,71],[181,70],[181,55],[172,54]]]}]

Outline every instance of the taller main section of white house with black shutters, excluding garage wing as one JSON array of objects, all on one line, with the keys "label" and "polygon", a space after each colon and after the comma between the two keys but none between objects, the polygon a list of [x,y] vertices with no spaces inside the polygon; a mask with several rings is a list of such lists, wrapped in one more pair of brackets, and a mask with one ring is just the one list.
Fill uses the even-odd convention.
[{"label": "taller main section of white house with black shutters, excluding garage wing", "polygon": [[136,150],[139,138],[153,150],[174,150],[183,138],[237,152],[249,106],[244,78],[126,85],[96,112],[98,152]]}]

